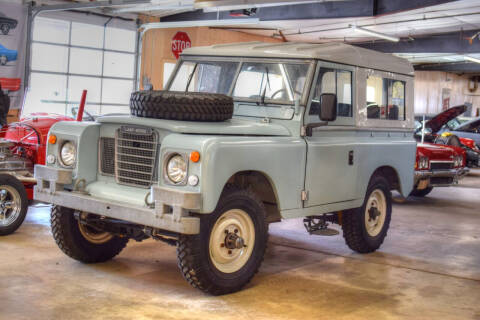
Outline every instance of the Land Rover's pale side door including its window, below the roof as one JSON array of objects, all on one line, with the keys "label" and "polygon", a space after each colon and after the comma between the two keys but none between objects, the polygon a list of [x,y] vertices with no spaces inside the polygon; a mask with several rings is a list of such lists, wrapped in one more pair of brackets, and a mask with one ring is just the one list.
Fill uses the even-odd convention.
[{"label": "Land Rover's pale side door including its window, below the roof", "polygon": [[320,122],[319,98],[322,93],[337,95],[337,119],[314,128],[307,142],[304,207],[355,199],[357,159],[354,127],[355,68],[319,63],[314,90],[305,116],[305,125]]}]

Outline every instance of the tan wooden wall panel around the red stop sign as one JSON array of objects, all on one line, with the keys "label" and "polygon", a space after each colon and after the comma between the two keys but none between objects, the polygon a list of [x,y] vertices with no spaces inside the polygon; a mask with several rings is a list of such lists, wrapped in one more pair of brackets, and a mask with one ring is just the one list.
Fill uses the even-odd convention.
[{"label": "tan wooden wall panel around the red stop sign", "polygon": [[280,42],[278,39],[250,35],[208,27],[193,27],[180,29],[154,29],[148,31],[143,38],[142,64],[140,85],[143,88],[145,78],[149,78],[154,89],[163,88],[163,67],[166,62],[175,63],[171,41],[178,32],[186,32],[192,41],[192,46],[208,46],[221,43],[264,41]]}]

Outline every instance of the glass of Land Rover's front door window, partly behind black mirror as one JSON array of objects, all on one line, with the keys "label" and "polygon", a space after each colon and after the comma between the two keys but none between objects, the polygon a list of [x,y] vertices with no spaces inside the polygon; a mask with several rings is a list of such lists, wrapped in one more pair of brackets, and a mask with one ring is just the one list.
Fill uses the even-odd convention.
[{"label": "glass of Land Rover's front door window, partly behind black mirror", "polygon": [[310,105],[310,115],[318,115],[320,113],[320,95],[322,93],[334,93],[337,95],[337,116],[352,116],[351,71],[331,68],[320,69]]}]

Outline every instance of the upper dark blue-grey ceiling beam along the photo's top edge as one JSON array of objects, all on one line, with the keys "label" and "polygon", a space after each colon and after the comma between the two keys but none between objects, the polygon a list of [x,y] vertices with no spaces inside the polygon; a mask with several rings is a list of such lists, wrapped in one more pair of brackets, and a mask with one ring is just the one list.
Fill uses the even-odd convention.
[{"label": "upper dark blue-grey ceiling beam along the photo's top edge", "polygon": [[[457,0],[356,0],[356,1],[324,1],[315,3],[300,3],[261,7],[253,17],[260,21],[277,20],[306,20],[306,19],[333,19],[333,18],[354,18],[373,17],[386,15],[400,11],[408,11],[444,4]],[[251,7],[255,7],[254,4]],[[219,6],[218,12],[204,12],[195,10],[192,12],[179,13],[162,18],[166,22],[174,21],[196,21],[230,19],[229,11],[222,11]]]}]

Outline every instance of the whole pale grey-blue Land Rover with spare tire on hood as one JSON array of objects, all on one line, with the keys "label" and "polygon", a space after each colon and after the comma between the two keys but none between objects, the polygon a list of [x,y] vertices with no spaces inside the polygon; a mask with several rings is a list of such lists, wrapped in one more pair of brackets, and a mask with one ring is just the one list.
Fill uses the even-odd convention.
[{"label": "whole pale grey-blue Land Rover with spare tire on hood", "polygon": [[131,116],[55,124],[35,199],[54,204],[68,256],[106,261],[152,237],[177,245],[185,279],[211,294],[249,282],[281,219],[320,235],[337,223],[372,252],[391,190],[413,187],[412,75],[346,44],[190,48],[165,91],[132,94]]}]

